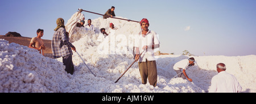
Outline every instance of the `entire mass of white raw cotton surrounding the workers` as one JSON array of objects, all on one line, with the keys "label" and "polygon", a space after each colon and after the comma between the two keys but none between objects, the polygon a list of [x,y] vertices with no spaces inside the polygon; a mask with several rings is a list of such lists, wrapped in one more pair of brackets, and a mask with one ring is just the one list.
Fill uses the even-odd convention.
[{"label": "entire mass of white raw cotton surrounding the workers", "polygon": [[[100,37],[102,34],[99,29],[107,28],[110,22],[119,28],[119,31],[113,34],[114,40],[110,36]],[[96,32],[89,33],[81,30],[82,28],[76,28],[73,35],[77,40],[72,44],[96,77],[76,53],[73,53],[72,57],[75,72],[70,75],[64,71],[61,58],[43,57],[38,51],[27,46],[0,40],[0,92],[208,92],[210,80],[217,75],[216,64],[220,62],[226,64],[227,72],[237,77],[243,88],[242,92],[256,92],[255,55],[194,57],[197,64],[187,71],[193,82],[181,78],[171,79],[176,75],[174,64],[189,58],[188,56],[160,55],[156,60],[156,87],[148,83],[141,84],[138,63],[134,63],[130,70],[114,83],[134,61],[130,47],[130,43],[133,44],[134,41],[130,36],[140,30],[139,24],[101,18],[92,20],[92,24],[96,26]],[[127,37],[127,42],[119,40],[118,34]],[[115,41],[114,44],[112,41]],[[123,53],[121,50],[127,52]]]}]

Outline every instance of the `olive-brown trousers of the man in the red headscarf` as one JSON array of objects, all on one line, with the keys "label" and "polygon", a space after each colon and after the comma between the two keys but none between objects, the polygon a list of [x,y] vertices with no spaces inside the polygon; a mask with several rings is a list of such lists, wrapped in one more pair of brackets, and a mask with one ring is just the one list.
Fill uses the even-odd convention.
[{"label": "olive-brown trousers of the man in the red headscarf", "polygon": [[142,84],[147,84],[147,79],[150,85],[156,86],[158,80],[158,72],[156,70],[155,60],[139,62],[139,72],[141,73]]}]

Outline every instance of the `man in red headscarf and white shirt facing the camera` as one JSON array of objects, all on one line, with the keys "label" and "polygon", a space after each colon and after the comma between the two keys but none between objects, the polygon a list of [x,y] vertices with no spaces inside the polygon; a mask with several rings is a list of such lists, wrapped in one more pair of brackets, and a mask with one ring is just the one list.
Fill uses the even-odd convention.
[{"label": "man in red headscarf and white shirt facing the camera", "polygon": [[[156,69],[156,62],[154,56],[154,49],[159,47],[159,39],[154,31],[148,29],[149,23],[147,19],[142,19],[141,22],[142,31],[135,37],[135,60],[139,60],[139,72],[142,77],[142,84],[150,83],[150,85],[156,86],[158,73]],[[145,50],[143,53],[142,51]],[[139,54],[142,53],[141,57]]]}]

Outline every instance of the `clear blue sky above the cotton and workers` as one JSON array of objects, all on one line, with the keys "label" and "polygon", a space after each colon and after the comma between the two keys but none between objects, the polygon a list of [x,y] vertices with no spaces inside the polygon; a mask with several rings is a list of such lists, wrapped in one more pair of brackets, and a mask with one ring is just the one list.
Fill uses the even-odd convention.
[{"label": "clear blue sky above the cotton and workers", "polygon": [[[256,55],[255,0],[175,1],[67,1],[0,0],[0,34],[18,32],[52,39],[56,19],[65,22],[78,8],[104,14],[115,6],[115,14],[131,20],[147,18],[159,34],[162,53],[195,55]],[[85,14],[85,19],[101,16]]]}]

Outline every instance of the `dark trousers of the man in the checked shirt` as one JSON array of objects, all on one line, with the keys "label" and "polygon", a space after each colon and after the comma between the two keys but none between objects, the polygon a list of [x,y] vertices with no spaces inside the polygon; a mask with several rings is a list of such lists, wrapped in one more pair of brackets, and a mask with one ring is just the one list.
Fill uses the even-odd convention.
[{"label": "dark trousers of the man in the checked shirt", "polygon": [[62,62],[63,65],[66,67],[65,71],[67,71],[68,73],[70,73],[71,75],[73,75],[74,72],[74,64],[72,62],[72,55],[66,55],[65,57],[62,57]]}]

